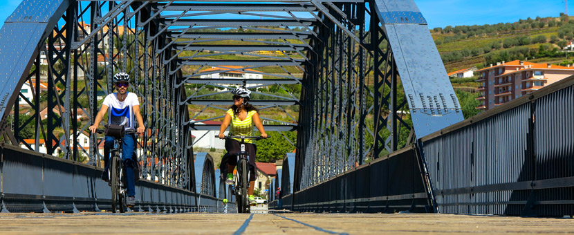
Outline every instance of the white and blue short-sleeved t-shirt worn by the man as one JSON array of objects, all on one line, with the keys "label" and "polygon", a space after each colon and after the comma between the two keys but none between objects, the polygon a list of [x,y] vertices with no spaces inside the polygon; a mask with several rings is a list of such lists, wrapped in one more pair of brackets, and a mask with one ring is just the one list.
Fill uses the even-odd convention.
[{"label": "white and blue short-sleeved t-shirt worn by the man", "polygon": [[117,93],[111,93],[104,99],[104,105],[108,106],[108,123],[125,126],[126,130],[136,129],[136,119],[133,117],[133,106],[140,105],[136,93],[127,93],[123,102],[118,100]]}]

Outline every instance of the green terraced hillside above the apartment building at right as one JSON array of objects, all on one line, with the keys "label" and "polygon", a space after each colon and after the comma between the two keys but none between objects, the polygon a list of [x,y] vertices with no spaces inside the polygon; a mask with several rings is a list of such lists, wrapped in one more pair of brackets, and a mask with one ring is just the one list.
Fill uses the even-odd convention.
[{"label": "green terraced hillside above the apartment building at right", "polygon": [[574,39],[574,18],[536,17],[514,23],[446,26],[431,30],[447,72],[515,59],[537,63],[574,63],[562,48]]}]

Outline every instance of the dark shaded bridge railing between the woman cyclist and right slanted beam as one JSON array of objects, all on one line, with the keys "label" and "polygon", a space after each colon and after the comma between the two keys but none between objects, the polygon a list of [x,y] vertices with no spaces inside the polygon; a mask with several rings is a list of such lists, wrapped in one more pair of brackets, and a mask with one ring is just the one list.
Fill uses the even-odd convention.
[{"label": "dark shaded bridge railing between the woman cyclist and right slanted beam", "polygon": [[269,207],[298,212],[432,212],[419,159],[411,145],[293,194],[284,192],[286,180],[281,180],[281,198]]}]

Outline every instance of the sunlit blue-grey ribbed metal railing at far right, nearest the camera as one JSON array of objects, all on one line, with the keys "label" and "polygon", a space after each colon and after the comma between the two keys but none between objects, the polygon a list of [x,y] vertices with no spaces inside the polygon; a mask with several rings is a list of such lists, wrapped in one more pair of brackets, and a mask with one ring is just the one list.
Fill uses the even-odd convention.
[{"label": "sunlit blue-grey ribbed metal railing at far right, nearest the camera", "polygon": [[573,78],[423,138],[438,212],[574,214]]}]

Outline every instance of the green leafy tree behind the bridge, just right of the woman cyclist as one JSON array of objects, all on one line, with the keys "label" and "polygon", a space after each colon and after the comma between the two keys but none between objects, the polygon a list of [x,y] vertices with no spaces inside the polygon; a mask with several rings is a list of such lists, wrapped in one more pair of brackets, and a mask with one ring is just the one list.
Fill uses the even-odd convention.
[{"label": "green leafy tree behind the bridge, just right of the woman cyclist", "polygon": [[[268,137],[263,140],[257,140],[257,162],[272,162],[272,160],[283,159],[286,153],[291,153],[295,147],[290,144],[281,133],[277,131],[266,131]],[[260,133],[257,132],[256,135]],[[289,138],[293,144],[297,138],[297,133],[286,131],[283,134]]]}]

